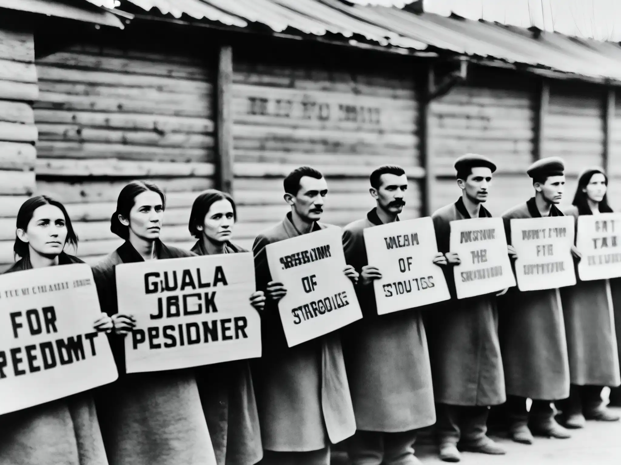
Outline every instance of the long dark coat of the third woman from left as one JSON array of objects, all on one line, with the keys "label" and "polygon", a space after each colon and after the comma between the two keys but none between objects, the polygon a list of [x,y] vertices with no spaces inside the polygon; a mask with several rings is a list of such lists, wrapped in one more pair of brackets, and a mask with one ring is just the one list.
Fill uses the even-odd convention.
[{"label": "long dark coat of the third woman from left", "polygon": [[[248,252],[230,242],[224,248],[227,254]],[[194,244],[192,252],[207,255],[201,241]],[[218,465],[260,461],[261,430],[248,360],[202,366],[197,370],[197,381]]]}]

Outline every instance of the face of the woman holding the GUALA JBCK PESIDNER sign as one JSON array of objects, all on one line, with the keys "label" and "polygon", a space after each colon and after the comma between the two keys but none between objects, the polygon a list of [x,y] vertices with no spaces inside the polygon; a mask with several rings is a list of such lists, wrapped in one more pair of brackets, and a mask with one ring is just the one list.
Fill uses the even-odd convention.
[{"label": "face of the woman holding the GUALA JBCK PESIDNER sign", "polygon": [[155,241],[160,237],[161,224],[164,219],[164,205],[160,194],[152,190],[139,193],[134,198],[134,206],[129,211],[129,218],[119,215],[119,219],[122,224],[129,226],[130,231],[140,239]]}]

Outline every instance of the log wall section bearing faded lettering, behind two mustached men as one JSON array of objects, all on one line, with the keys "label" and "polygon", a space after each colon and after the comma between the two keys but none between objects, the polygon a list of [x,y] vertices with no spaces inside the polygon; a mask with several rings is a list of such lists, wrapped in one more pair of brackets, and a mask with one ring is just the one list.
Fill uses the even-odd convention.
[{"label": "log wall section bearing faded lettering, behind two mustached men", "polygon": [[[233,136],[239,224],[235,240],[283,219],[283,177],[314,166],[329,185],[322,221],[343,226],[373,208],[368,176],[381,164],[420,174],[414,81],[386,73],[337,72],[235,61]],[[403,218],[419,216],[420,187],[410,182]]]}]

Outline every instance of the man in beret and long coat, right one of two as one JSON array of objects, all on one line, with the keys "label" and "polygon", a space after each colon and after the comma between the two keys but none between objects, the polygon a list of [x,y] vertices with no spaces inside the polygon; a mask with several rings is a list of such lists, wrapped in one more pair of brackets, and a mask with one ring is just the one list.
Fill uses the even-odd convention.
[{"label": "man in beret and long coat, right one of two", "polygon": [[[563,216],[556,207],[563,197],[563,160],[545,158],[527,170],[535,197],[502,215],[511,240],[512,218]],[[499,300],[499,338],[507,383],[509,433],[519,443],[532,444],[533,434],[569,438],[554,418],[552,401],[569,396],[569,361],[563,308],[558,289],[519,291],[511,288]],[[530,414],[526,399],[532,399]]]}]

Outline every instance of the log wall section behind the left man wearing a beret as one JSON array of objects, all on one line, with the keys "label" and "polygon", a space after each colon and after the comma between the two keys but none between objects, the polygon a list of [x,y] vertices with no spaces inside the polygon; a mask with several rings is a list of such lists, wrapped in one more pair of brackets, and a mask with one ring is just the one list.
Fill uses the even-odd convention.
[{"label": "log wall section behind the left man wearing a beret", "polygon": [[532,192],[525,170],[532,162],[535,86],[527,79],[481,74],[433,100],[430,105],[430,154],[440,179],[432,211],[455,201],[461,190],[453,164],[466,153],[486,155],[498,167],[486,207],[494,215]]}]

